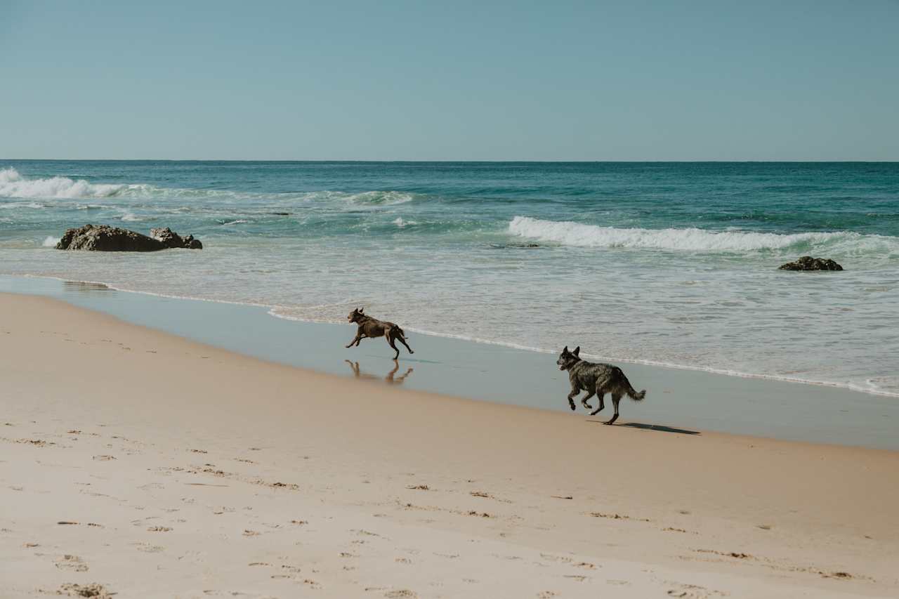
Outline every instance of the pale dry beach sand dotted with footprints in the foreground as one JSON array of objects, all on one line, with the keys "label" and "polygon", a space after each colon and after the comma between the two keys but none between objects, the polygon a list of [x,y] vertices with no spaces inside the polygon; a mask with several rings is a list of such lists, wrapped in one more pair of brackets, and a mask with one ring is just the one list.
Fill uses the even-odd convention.
[{"label": "pale dry beach sand dotted with footprints in the foreground", "polygon": [[899,452],[407,391],[53,299],[0,295],[0,447],[4,599],[899,595]]}]

